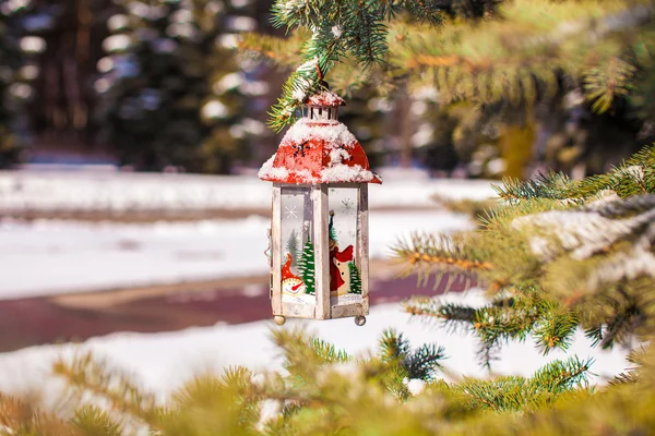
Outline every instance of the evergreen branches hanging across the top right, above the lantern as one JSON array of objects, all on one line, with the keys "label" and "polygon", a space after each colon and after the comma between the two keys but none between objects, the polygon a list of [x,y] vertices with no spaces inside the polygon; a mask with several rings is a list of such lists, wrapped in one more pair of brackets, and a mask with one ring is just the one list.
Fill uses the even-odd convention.
[{"label": "evergreen branches hanging across the top right, above the lantern", "polygon": [[[273,108],[275,130],[293,122],[323,76],[345,90],[344,72],[350,75],[347,88],[408,81],[412,89],[434,87],[442,102],[529,106],[563,87],[580,88],[597,111],[616,101],[652,111],[645,93],[652,82],[654,14],[647,1],[278,0],[273,13],[275,25],[295,31],[293,37],[249,35],[241,48],[279,64],[301,64]],[[301,60],[273,59],[275,52],[300,53]],[[353,76],[353,70],[361,72]]]}]

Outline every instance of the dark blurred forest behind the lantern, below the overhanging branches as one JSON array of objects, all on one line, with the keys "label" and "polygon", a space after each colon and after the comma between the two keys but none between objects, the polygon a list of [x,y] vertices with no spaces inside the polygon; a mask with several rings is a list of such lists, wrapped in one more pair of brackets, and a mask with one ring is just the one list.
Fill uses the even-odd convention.
[{"label": "dark blurred forest behind the lantern, below the overhanging branches", "polygon": [[[230,174],[274,152],[266,111],[288,72],[234,52],[239,33],[281,35],[270,2],[0,4],[0,168]],[[592,116],[579,92],[562,89],[512,117],[437,105],[430,88],[381,97],[365,87],[347,96],[344,122],[374,166],[434,177],[529,177],[543,167],[582,177],[651,142],[652,125],[620,104]]]}]

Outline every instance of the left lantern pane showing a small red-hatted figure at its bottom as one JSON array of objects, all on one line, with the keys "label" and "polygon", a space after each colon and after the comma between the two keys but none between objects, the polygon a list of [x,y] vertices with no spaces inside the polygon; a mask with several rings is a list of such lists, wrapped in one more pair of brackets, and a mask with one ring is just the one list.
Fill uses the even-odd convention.
[{"label": "left lantern pane showing a small red-hatted figure at its bottom", "polygon": [[315,304],[313,208],[309,186],[282,187],[282,301]]}]

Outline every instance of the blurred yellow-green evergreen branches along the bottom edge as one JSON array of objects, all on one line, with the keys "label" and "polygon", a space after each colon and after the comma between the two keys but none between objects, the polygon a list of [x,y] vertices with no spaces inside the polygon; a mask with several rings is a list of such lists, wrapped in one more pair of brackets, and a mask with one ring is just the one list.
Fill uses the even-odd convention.
[{"label": "blurred yellow-green evergreen branches along the bottom edge", "polygon": [[413,349],[393,330],[383,334],[376,355],[357,360],[302,330],[279,329],[273,339],[284,355],[284,373],[231,367],[222,376],[196,376],[154,409],[144,409],[142,401],[152,395],[135,391],[120,371],[81,354],[57,364],[75,398],[71,414],[58,417],[33,403],[0,397],[0,423],[8,434],[140,431],[162,436],[556,435],[562,428],[571,434],[588,428],[639,433],[655,424],[650,366],[634,380],[600,390],[586,387],[591,362],[576,358],[550,362],[531,377],[449,383],[440,378],[440,347]]}]

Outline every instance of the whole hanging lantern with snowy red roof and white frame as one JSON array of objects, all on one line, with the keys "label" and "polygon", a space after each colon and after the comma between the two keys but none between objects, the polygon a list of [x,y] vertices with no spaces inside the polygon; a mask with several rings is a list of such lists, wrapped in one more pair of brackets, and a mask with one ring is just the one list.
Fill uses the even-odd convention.
[{"label": "whole hanging lantern with snowy red roof and white frame", "polygon": [[354,316],[361,326],[369,312],[368,183],[382,180],[337,121],[340,106],[326,87],[306,99],[259,171],[273,182],[271,301],[279,325]]}]

